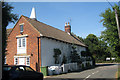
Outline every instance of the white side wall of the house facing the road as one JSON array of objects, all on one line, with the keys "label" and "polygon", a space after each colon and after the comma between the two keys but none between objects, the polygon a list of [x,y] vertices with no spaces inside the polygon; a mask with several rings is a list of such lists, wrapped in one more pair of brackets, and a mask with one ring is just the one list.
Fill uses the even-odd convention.
[{"label": "white side wall of the house facing the road", "polygon": [[[77,51],[85,51],[84,47],[77,46],[78,49]],[[66,44],[60,41],[48,39],[48,38],[41,38],[41,65],[42,66],[51,66],[55,65],[55,59],[53,57],[54,55],[54,49],[59,48],[61,50],[61,58],[59,58],[59,61],[62,62],[63,55],[68,57],[67,61],[69,62],[69,56],[71,53],[71,45]]]}]

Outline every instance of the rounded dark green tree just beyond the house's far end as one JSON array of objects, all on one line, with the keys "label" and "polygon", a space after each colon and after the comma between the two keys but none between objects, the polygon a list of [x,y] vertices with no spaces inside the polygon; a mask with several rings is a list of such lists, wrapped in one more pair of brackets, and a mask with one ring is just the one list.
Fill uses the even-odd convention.
[{"label": "rounded dark green tree just beyond the house's far end", "polygon": [[84,39],[84,43],[88,46],[87,53],[90,54],[89,56],[91,56],[92,59],[105,60],[105,57],[108,56],[107,43],[94,34],[89,34],[86,39]]}]

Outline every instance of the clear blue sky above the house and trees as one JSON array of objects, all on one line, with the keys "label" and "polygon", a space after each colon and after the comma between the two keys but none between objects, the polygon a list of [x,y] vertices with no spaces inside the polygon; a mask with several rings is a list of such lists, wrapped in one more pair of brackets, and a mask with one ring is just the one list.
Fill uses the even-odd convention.
[{"label": "clear blue sky above the house and trees", "polygon": [[[111,2],[114,5],[117,2]],[[99,15],[111,6],[107,2],[9,2],[13,13],[30,17],[32,7],[37,20],[64,31],[65,22],[71,19],[71,30],[85,38],[89,34],[100,36],[104,30]],[[118,4],[118,3],[117,3]],[[10,23],[7,28],[13,28]]]}]

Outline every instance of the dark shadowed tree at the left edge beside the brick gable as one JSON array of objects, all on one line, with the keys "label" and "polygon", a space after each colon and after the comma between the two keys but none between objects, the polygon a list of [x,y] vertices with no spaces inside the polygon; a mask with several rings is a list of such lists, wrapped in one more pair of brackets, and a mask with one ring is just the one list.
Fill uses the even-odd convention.
[{"label": "dark shadowed tree at the left edge beside the brick gable", "polygon": [[9,23],[15,23],[18,19],[16,14],[12,13],[14,7],[6,2],[2,2],[2,64],[4,64],[5,49],[6,49],[6,27]]}]

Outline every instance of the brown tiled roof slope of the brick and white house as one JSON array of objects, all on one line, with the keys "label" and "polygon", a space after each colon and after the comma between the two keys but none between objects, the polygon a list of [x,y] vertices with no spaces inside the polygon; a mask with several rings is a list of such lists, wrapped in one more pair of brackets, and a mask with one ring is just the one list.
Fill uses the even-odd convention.
[{"label": "brown tiled roof slope of the brick and white house", "polygon": [[42,22],[39,22],[37,20],[28,18],[26,16],[23,16],[33,27],[35,27],[40,34],[42,34],[42,36],[44,37],[48,37],[48,38],[53,38],[56,40],[60,40],[63,42],[67,42],[67,43],[72,43],[72,44],[77,44],[80,46],[84,46],[86,47],[86,45],[82,42],[80,42],[79,40],[77,40],[76,38],[74,38],[73,36],[69,35],[68,33],[59,30],[57,28],[54,28],[52,26],[46,25]]}]

